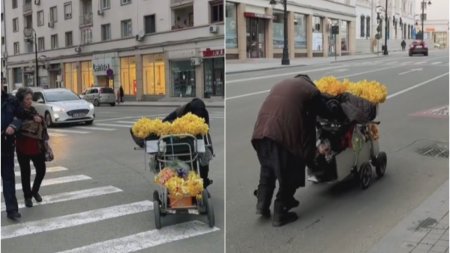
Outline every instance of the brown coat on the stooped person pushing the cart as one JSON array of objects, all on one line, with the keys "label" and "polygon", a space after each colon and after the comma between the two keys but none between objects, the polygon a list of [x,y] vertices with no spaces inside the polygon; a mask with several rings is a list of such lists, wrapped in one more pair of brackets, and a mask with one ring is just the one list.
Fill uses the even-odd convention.
[{"label": "brown coat on the stooped person pushing the cart", "polygon": [[276,84],[264,101],[252,136],[269,138],[306,161],[315,153],[316,130],[313,98],[320,91],[303,77]]}]

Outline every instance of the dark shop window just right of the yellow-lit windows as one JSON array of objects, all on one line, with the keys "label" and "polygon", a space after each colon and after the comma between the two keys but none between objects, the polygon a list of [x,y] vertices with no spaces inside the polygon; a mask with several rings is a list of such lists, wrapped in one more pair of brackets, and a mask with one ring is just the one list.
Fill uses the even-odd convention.
[{"label": "dark shop window just right of the yellow-lit windows", "polygon": [[195,68],[190,60],[171,61],[171,83],[173,83],[173,96],[194,97],[195,96]]}]

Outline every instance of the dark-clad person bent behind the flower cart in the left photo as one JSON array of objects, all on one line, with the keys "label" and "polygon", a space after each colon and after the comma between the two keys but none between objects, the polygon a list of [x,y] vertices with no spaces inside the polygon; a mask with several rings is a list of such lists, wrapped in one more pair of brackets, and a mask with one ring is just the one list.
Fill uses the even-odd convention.
[{"label": "dark-clad person bent behind the flower cart in the left photo", "polygon": [[[208,124],[209,126],[208,110],[206,109],[206,105],[203,102],[203,100],[199,98],[194,98],[189,103],[178,107],[176,110],[167,115],[167,117],[165,117],[163,121],[172,122],[175,119],[180,118],[189,112],[199,116],[200,118],[204,118],[205,123]],[[211,136],[209,135],[209,133],[206,138],[208,138],[209,139],[208,142],[211,143]],[[214,151],[212,150],[212,145],[211,147],[208,148],[209,148],[208,152],[214,154]],[[200,165],[199,167],[200,167],[200,177],[203,179],[203,185],[206,188],[208,185],[213,183],[213,180],[208,178],[209,165]]]}]

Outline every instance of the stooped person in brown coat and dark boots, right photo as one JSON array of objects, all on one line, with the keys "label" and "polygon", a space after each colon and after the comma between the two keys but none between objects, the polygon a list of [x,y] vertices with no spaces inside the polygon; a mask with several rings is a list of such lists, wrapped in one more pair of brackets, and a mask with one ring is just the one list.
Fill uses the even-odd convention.
[{"label": "stooped person in brown coat and dark boots, right photo", "polygon": [[259,111],[252,145],[261,164],[257,214],[270,216],[270,204],[278,180],[273,226],[297,219],[289,209],[298,206],[294,193],[305,186],[305,165],[316,151],[316,116],[332,112],[308,76],[299,75],[272,87]]}]

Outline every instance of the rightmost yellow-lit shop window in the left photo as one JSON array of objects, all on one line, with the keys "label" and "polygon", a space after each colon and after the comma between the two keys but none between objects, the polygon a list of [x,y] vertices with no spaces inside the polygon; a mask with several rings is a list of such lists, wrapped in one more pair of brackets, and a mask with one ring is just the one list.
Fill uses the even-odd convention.
[{"label": "rightmost yellow-lit shop window in the left photo", "polygon": [[166,95],[166,68],[163,56],[144,55],[142,62],[144,95]]}]

